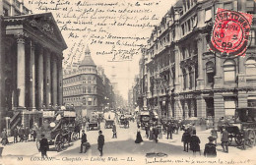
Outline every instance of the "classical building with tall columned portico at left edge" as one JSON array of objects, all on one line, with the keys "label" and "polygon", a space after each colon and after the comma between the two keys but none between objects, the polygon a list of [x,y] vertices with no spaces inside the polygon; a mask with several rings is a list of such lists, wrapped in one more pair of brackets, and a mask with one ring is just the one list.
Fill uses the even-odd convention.
[{"label": "classical building with tall columned portico at left edge", "polygon": [[67,45],[51,13],[32,15],[17,0],[3,1],[1,9],[0,130],[40,126],[42,108],[62,105]]}]

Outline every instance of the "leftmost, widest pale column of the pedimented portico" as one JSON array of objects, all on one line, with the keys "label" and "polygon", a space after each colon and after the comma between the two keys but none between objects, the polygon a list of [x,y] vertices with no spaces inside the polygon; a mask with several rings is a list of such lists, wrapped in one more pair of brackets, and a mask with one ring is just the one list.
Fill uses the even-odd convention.
[{"label": "leftmost, widest pale column of the pedimented portico", "polygon": [[17,39],[17,88],[20,107],[25,107],[25,59],[25,39],[23,35],[19,35]]}]

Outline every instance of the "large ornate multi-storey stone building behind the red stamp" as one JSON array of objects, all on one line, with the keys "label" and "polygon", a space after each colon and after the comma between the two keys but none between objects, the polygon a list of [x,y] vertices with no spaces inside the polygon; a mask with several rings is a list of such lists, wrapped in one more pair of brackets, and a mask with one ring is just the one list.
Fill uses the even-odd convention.
[{"label": "large ornate multi-storey stone building behind the red stamp", "polygon": [[[217,8],[253,14],[245,57],[209,51]],[[155,27],[143,51],[141,82],[147,105],[161,118],[234,116],[235,107],[256,106],[256,2],[178,0]],[[142,64],[143,64],[142,63]],[[142,105],[143,105],[142,104]]]}]

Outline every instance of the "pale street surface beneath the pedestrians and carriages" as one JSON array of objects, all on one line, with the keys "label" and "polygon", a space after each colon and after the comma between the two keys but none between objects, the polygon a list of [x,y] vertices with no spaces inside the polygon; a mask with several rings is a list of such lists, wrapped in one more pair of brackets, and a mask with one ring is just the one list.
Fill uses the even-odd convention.
[{"label": "pale street surface beneath the pedestrians and carriages", "polygon": [[[91,144],[91,148],[87,150],[86,153],[80,152],[80,144],[81,139],[77,139],[69,144],[66,144],[64,148],[57,152],[54,149],[54,145],[49,146],[49,151],[47,155],[49,158],[54,158],[54,161],[67,163],[70,161],[81,161],[80,159],[84,159],[84,161],[89,161],[90,163],[99,163],[102,161],[102,158],[110,159],[118,159],[118,161],[128,161],[128,163],[138,163],[140,161],[149,161],[151,157],[149,156],[151,153],[156,153],[162,155],[162,157],[170,158],[170,159],[204,159],[204,147],[208,142],[208,137],[211,135],[211,130],[206,130],[205,126],[196,126],[197,136],[200,138],[200,153],[196,153],[193,155],[191,150],[188,152],[183,151],[183,142],[181,141],[183,131],[179,131],[178,134],[174,133],[172,135],[172,139],[167,139],[167,135],[159,135],[159,141],[156,142],[154,139],[150,140],[146,137],[145,130],[140,130],[143,142],[135,143],[136,134],[137,134],[137,123],[130,122],[129,128],[120,127],[120,125],[116,125],[117,138],[112,138],[112,129],[104,129],[104,123],[100,124],[100,128],[102,131],[102,135],[104,136],[105,144],[103,147],[103,155],[99,156],[99,152],[97,150],[97,136],[98,131],[87,131],[86,135],[88,142]],[[218,133],[219,137],[221,137],[220,132]],[[82,136],[82,135],[81,135]],[[4,150],[2,153],[2,160],[5,161],[14,161],[19,162],[19,158],[23,159],[20,163],[25,163],[26,161],[38,161],[40,159],[40,153],[36,148],[35,142],[32,140],[12,143],[13,138],[9,138],[10,143],[4,146]],[[19,148],[19,149],[18,149]],[[255,148],[247,148],[246,150],[239,148],[235,143],[232,143],[229,147],[228,153],[223,151],[221,146],[221,139],[218,139],[217,145],[217,157],[215,159],[236,159],[240,157],[240,160],[252,162],[253,154],[255,153]],[[22,153],[22,155],[21,155]],[[246,159],[242,158],[241,155],[246,155]],[[144,159],[144,158],[149,159]],[[155,155],[156,157],[156,155]],[[158,157],[158,156],[157,156]],[[160,157],[160,156],[159,156]],[[72,159],[76,158],[76,159]],[[143,159],[142,159],[143,158]],[[128,159],[128,160],[127,160]],[[38,163],[46,163],[47,159],[44,161],[39,161]],[[178,160],[178,159],[177,159]],[[113,160],[114,161],[114,160]],[[78,162],[79,163],[79,162]],[[102,162],[101,162],[102,163]]]}]

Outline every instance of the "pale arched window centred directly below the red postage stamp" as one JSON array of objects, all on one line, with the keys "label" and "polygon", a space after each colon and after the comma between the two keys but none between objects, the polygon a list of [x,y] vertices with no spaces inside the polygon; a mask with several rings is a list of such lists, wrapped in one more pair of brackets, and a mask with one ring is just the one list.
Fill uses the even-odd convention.
[{"label": "pale arched window centred directly below the red postage stamp", "polygon": [[226,60],[224,62],[224,82],[232,83],[235,82],[235,62],[233,60]]}]

